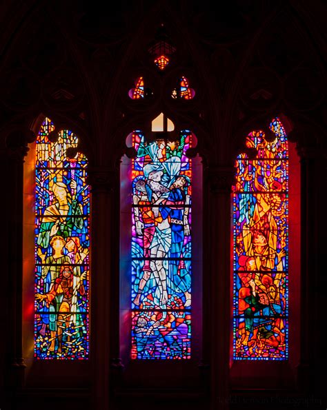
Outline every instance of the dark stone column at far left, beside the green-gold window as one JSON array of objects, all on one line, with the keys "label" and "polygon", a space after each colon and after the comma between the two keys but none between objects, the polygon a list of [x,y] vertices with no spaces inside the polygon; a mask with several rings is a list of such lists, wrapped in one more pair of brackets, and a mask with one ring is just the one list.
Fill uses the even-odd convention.
[{"label": "dark stone column at far left, beside the green-gold window", "polygon": [[[23,387],[26,365],[22,353],[22,298],[23,298],[23,158],[28,152],[26,134],[12,132],[6,139],[7,148],[1,150],[1,175],[3,176],[1,214],[3,216],[3,329],[1,350],[3,385],[6,393],[14,395]],[[30,135],[28,135],[30,137]],[[2,344],[1,343],[1,344]],[[2,383],[1,383],[2,384]]]}]

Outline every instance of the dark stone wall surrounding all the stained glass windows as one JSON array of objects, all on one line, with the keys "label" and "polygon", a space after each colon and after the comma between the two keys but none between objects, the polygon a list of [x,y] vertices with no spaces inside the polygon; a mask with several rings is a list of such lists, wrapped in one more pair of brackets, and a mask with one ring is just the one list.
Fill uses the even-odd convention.
[{"label": "dark stone wall surrounding all the stained glass windows", "polygon": [[[326,407],[326,16],[319,0],[1,4],[1,409]],[[148,48],[162,24],[176,51],[159,72]],[[188,104],[170,98],[181,74],[196,90]],[[152,97],[136,104],[128,90],[139,75]],[[195,132],[203,161],[204,334],[202,360],[191,367],[153,363],[150,373],[166,380],[156,385],[146,365],[127,369],[119,360],[117,233],[126,136],[148,129],[160,112]],[[301,162],[300,359],[296,369],[254,370],[275,380],[272,389],[257,390],[242,370],[235,388],[226,314],[233,161],[246,134],[267,129],[276,115]],[[23,167],[43,116],[75,132],[90,160],[93,353],[87,364],[26,367],[23,357]]]}]

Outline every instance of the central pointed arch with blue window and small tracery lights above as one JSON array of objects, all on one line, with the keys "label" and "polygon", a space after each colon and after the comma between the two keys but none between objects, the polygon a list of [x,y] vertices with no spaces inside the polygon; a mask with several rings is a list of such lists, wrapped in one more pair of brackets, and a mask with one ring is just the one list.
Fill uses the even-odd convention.
[{"label": "central pointed arch with blue window and small tracery lights above", "polygon": [[[169,48],[163,44],[160,47]],[[144,74],[137,71],[136,88],[129,93],[128,88],[124,90],[134,100],[126,105],[133,107],[130,116],[134,117],[135,131],[126,139],[129,158],[123,156],[120,171],[119,334],[120,357],[129,380],[121,387],[135,380],[137,373],[143,374],[140,386],[159,387],[163,381],[161,368],[164,373],[176,373],[169,382],[170,389],[174,383],[185,385],[187,380],[194,386],[199,383],[202,165],[197,155],[198,139],[192,132],[197,121],[188,121],[185,106],[190,103],[188,107],[194,111],[195,105],[193,101],[183,103],[185,93],[189,97],[186,100],[196,94],[185,83],[174,57],[158,68],[153,55]],[[156,78],[158,82],[154,83]],[[135,97],[137,84],[143,87],[143,98]],[[174,88],[178,88],[180,101],[172,97]],[[178,181],[184,183],[177,186]],[[161,189],[155,189],[155,184]],[[180,372],[186,368],[188,376],[181,378]]]}]

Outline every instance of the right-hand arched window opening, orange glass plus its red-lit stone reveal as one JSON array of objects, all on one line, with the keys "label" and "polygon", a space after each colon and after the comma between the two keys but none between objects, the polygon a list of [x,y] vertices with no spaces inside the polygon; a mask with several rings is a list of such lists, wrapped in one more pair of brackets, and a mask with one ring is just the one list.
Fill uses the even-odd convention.
[{"label": "right-hand arched window opening, orange glass plus its red-lit stone reveal", "polygon": [[235,161],[230,369],[235,387],[244,378],[268,387],[281,369],[280,382],[290,383],[299,361],[301,177],[295,143],[288,141],[292,130],[284,114],[269,127],[263,122],[248,134]]}]

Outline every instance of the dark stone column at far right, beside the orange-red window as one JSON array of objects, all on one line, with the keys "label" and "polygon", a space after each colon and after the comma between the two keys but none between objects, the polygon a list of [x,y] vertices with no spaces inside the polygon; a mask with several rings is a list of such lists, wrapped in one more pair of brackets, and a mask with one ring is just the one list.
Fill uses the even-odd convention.
[{"label": "dark stone column at far right, beside the orange-red window", "polygon": [[[326,154],[326,153],[325,153]],[[326,155],[299,147],[301,156],[301,312],[299,387],[315,393],[326,349]],[[324,329],[325,328],[325,329]],[[324,338],[325,332],[325,338]]]}]

